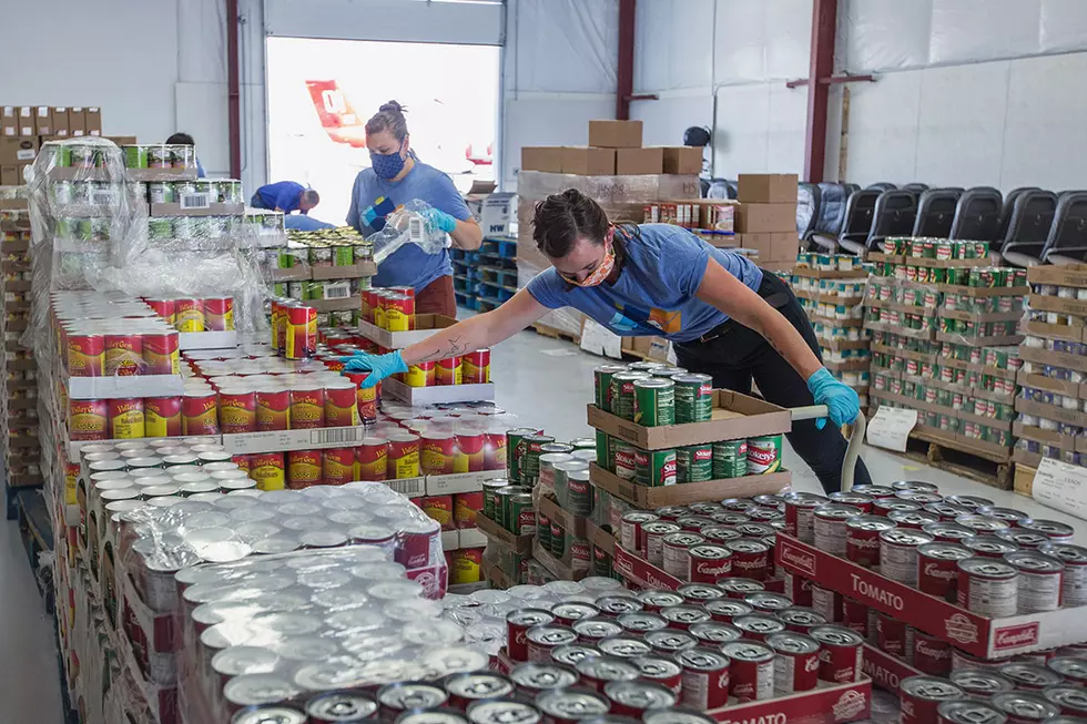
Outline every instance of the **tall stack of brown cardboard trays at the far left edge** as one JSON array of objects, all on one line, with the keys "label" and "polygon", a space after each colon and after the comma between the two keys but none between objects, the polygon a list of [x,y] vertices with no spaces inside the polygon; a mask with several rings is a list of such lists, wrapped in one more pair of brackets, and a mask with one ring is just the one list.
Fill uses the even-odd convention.
[{"label": "tall stack of brown cardboard trays at the far left edge", "polygon": [[[26,202],[26,200],[22,200]],[[32,351],[19,344],[30,320],[30,214],[0,210],[3,254],[4,360],[0,378],[0,434],[11,488],[41,485],[38,445],[38,364]]]}]

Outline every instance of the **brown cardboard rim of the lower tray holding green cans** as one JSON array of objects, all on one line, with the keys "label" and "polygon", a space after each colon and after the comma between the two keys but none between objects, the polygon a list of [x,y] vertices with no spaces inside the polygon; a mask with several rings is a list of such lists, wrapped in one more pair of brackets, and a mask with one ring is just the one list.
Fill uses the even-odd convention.
[{"label": "brown cardboard rim of the lower tray holding green cans", "polygon": [[613,472],[608,472],[596,462],[591,462],[589,463],[589,480],[601,490],[607,490],[617,498],[644,510],[664,506],[685,506],[692,502],[720,500],[722,498],[753,498],[754,496],[776,493],[789,486],[792,473],[788,470],[780,470],[741,478],[681,482],[674,486],[653,488],[637,483],[633,480],[624,480]]}]

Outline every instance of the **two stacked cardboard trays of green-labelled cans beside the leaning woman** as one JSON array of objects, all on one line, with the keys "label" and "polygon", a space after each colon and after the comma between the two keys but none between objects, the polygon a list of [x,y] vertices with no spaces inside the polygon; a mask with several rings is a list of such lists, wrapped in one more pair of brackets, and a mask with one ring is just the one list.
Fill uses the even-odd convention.
[{"label": "two stacked cardboard trays of green-labelled cans beside the leaning woman", "polygon": [[654,508],[789,485],[781,469],[788,411],[658,363],[606,365],[593,376],[597,488]]}]

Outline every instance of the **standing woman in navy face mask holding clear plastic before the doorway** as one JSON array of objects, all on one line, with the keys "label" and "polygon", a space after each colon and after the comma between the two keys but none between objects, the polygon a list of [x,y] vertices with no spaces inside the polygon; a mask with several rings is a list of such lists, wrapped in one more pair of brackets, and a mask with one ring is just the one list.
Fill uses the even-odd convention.
[{"label": "standing woman in navy face mask holding clear plastic before the doorway", "polygon": [[[453,181],[412,152],[405,110],[396,101],[389,101],[366,122],[366,147],[372,165],[355,177],[347,224],[369,235],[385,226],[386,216],[397,206],[419,200],[433,207],[428,221],[447,233],[454,246],[479,248],[482,231]],[[405,244],[382,263],[374,284],[414,287],[418,314],[457,316],[453,265],[445,249],[427,254],[415,244]]]}]

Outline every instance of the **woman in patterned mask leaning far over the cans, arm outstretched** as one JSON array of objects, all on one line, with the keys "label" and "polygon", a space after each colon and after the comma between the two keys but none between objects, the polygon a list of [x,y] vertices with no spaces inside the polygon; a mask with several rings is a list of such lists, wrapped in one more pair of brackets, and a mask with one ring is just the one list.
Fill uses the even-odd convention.
[{"label": "woman in patterned mask leaning far over the cans, arm outstretched", "polygon": [[[860,414],[855,391],[831,375],[789,286],[746,257],[714,248],[667,224],[614,226],[578,191],[536,206],[532,237],[555,265],[512,299],[388,355],[356,355],[347,369],[370,369],[367,384],[408,365],[490,347],[542,317],[575,307],[619,335],[660,335],[681,367],[714,387],[751,391],[751,380],[782,407],[826,405],[825,420],[793,425],[789,441],[826,491],[841,486],[845,439],[839,428]],[[857,461],[854,480],[871,482]]]}]

